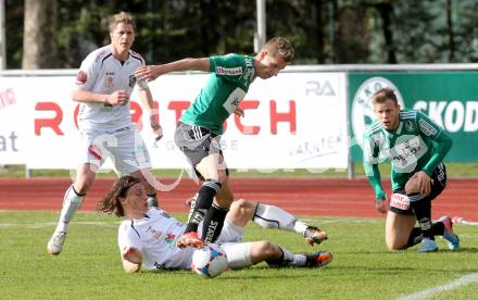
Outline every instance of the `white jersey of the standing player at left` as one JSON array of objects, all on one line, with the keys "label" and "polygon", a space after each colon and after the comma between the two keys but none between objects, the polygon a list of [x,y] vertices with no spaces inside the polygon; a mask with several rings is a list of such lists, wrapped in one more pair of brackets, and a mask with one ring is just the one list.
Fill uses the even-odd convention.
[{"label": "white jersey of the standing player at left", "polygon": [[[110,95],[116,90],[126,90],[128,95],[136,84],[135,71],[144,65],[138,53],[129,51],[128,59],[123,62],[113,57],[111,46],[95,50],[81,62],[76,75],[76,88],[97,93]],[[146,80],[138,82],[141,89],[148,88]],[[114,132],[131,126],[129,103],[109,105],[105,103],[80,103],[78,125],[83,130]]]}]

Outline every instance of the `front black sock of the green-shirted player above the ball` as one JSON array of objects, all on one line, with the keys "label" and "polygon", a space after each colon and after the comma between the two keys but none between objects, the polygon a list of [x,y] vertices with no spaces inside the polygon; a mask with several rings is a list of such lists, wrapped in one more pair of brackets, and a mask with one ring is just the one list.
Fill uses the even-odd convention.
[{"label": "front black sock of the green-shirted player above the ball", "polygon": [[204,218],[204,215],[213,203],[214,196],[219,189],[219,183],[206,180],[202,184],[198,191],[194,208],[191,208],[192,211],[189,214],[188,225],[186,226],[185,234],[198,232],[199,223],[201,223],[201,221]]}]

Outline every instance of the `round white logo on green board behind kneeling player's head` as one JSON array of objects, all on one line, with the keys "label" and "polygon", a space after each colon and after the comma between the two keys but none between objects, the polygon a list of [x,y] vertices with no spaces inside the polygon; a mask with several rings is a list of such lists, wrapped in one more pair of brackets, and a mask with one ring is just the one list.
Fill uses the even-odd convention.
[{"label": "round white logo on green board behind kneeling player's head", "polygon": [[372,77],[364,82],[355,92],[352,103],[352,130],[356,142],[362,148],[365,129],[375,121],[372,96],[379,89],[392,88],[395,91],[397,100],[403,109],[404,102],[399,89],[383,77]]}]

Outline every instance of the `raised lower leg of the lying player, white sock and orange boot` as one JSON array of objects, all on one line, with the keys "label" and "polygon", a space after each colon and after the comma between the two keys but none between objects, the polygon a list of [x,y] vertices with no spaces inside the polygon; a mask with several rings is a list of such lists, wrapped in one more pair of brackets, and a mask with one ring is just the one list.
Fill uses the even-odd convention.
[{"label": "raised lower leg of the lying player, white sock and orange boot", "polygon": [[252,220],[265,228],[299,233],[304,236],[305,241],[311,246],[318,245],[327,239],[326,232],[298,221],[295,216],[275,205],[257,203]]}]

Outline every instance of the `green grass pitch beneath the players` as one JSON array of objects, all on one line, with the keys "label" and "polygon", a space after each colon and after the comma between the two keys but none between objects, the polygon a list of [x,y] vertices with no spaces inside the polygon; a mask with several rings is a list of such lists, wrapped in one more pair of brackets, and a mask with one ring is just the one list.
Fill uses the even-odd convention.
[{"label": "green grass pitch beneath the players", "polygon": [[[475,280],[431,299],[477,297],[478,235],[455,226],[462,249],[389,252],[379,218],[301,217],[329,233],[314,249],[335,260],[319,270],[254,267],[203,279],[190,272],[125,274],[116,243],[120,220],[78,213],[64,251],[46,253],[58,212],[0,212],[0,299],[395,299],[474,274]],[[185,215],[179,215],[180,220]],[[311,251],[293,233],[248,226],[244,240],[268,239],[292,251]]]}]

